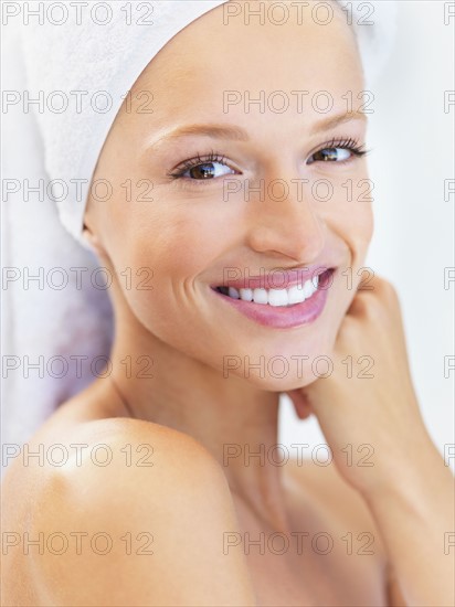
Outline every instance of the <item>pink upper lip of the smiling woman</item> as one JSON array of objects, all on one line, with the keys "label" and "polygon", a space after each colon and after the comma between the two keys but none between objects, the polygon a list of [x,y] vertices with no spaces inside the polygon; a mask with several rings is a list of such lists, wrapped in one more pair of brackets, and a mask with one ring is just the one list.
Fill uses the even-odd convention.
[{"label": "pink upper lip of the smiling woman", "polygon": [[[330,266],[306,266],[304,268],[276,271],[264,271],[260,276],[250,276],[248,268],[244,268],[243,277],[228,276],[222,285],[213,287],[233,287],[234,289],[288,289],[295,285],[304,285],[307,280],[322,274]],[[242,274],[242,268],[229,268],[229,274]]]}]

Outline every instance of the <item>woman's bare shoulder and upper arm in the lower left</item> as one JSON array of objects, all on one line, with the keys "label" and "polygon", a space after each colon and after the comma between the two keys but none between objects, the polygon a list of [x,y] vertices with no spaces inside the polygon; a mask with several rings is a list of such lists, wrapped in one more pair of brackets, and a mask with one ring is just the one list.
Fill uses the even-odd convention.
[{"label": "woman's bare shoulder and upper arm in the lower left", "polygon": [[213,597],[225,600],[229,588],[230,604],[254,605],[245,564],[220,547],[223,532],[236,529],[228,483],[197,440],[149,422],[94,419],[59,437],[61,452],[70,455],[53,466],[54,438],[42,433],[34,439],[44,445],[46,461],[40,470],[22,470],[31,481],[29,499],[25,482],[9,496],[11,501],[19,492],[27,503],[20,515],[9,513],[9,522],[41,545],[27,556],[10,551],[6,599],[209,605]]}]

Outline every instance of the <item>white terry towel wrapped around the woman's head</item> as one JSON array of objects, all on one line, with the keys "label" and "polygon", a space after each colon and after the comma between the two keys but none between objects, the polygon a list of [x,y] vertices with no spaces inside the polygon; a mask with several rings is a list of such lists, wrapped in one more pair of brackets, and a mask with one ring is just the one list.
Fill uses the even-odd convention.
[{"label": "white terry towel wrapped around the woman's head", "polygon": [[[395,3],[339,1],[351,11],[368,87],[393,44]],[[109,355],[112,306],[107,292],[92,284],[98,262],[81,237],[88,184],[123,95],[173,35],[225,2],[103,2],[112,17],[105,25],[109,13],[102,9],[95,14],[98,22],[68,10],[67,21],[57,25],[63,13],[55,9],[40,25],[32,15],[24,25],[23,12],[8,18],[2,49],[3,92],[9,92],[3,93],[2,161],[3,443],[25,441],[59,404],[95,379],[91,364],[96,356]],[[21,11],[24,4],[35,11],[47,6],[11,4]],[[27,92],[39,99],[30,113],[23,110]],[[106,100],[112,102],[108,111]],[[59,113],[65,102],[67,109]],[[42,180],[42,195],[30,193],[24,201],[24,180],[32,188]],[[59,180],[66,184],[66,198]],[[39,278],[30,281],[27,273]]]}]

